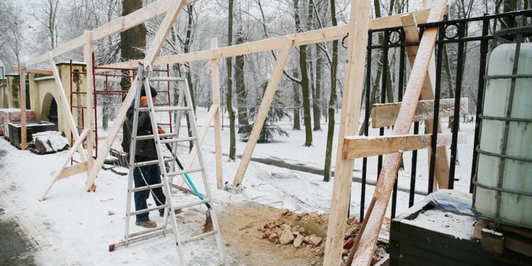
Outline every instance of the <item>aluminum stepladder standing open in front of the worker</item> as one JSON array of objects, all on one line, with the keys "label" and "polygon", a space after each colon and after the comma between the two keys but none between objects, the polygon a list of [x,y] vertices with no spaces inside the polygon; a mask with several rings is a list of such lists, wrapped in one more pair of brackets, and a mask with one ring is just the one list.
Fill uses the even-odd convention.
[{"label": "aluminum stepladder standing open in front of the worker", "polygon": [[[194,240],[201,240],[206,237],[209,237],[211,235],[214,235],[216,238],[216,245],[218,247],[218,253],[220,255],[221,265],[225,265],[226,262],[226,256],[225,251],[223,250],[223,243],[220,233],[220,228],[218,226],[218,218],[216,217],[216,211],[214,211],[214,204],[212,201],[212,194],[211,194],[211,188],[209,185],[209,181],[207,179],[207,175],[204,168],[204,157],[201,153],[201,145],[198,140],[197,136],[197,129],[196,129],[196,119],[194,114],[194,109],[192,109],[192,98],[190,96],[188,82],[184,78],[180,77],[149,77],[150,74],[150,66],[143,66],[139,65],[137,76],[135,79],[137,79],[137,93],[135,96],[135,102],[134,102],[134,114],[133,114],[133,127],[131,132],[131,154],[130,154],[130,167],[129,167],[129,173],[128,173],[128,196],[127,196],[127,206],[126,206],[126,228],[124,232],[124,240],[109,245],[109,251],[116,250],[116,248],[120,248],[122,246],[127,246],[131,243],[136,243],[141,240],[149,239],[149,238],[155,238],[160,235],[165,235],[165,233],[170,233],[174,235],[174,242],[177,245],[177,253],[179,258],[180,265],[184,265],[184,258],[183,258],[183,250],[182,246],[185,243],[192,242]],[[143,87],[150,88],[150,81],[154,82],[181,82],[184,84],[184,87],[179,87],[179,104],[178,106],[154,106],[153,99],[151,97],[150,89],[145,89],[145,94],[148,98],[148,107],[140,107],[140,90]],[[187,106],[184,106],[184,101],[187,101]],[[150,113],[150,121],[152,126],[152,132],[153,135],[137,135],[137,129],[138,129],[138,115],[140,111],[148,111]],[[177,112],[176,116],[176,122],[174,123],[174,133],[165,133],[165,134],[159,134],[157,130],[157,122],[155,120],[155,113],[156,112],[162,112],[162,111],[170,111],[170,112]],[[190,121],[190,127],[192,131],[192,137],[188,138],[179,138],[179,127],[180,127],[180,121],[181,121],[181,114],[182,112],[188,112],[189,113],[189,121]],[[148,140],[153,139],[155,141],[155,148],[157,150],[157,160],[152,160],[148,162],[135,162],[135,148],[136,143],[138,140]],[[194,147],[196,148],[196,154],[199,161],[199,168],[191,169],[191,170],[181,170],[176,167],[176,159],[175,155],[177,154],[177,145],[172,145],[172,151],[171,151],[171,157],[170,158],[163,158],[162,151],[160,148],[160,145],[166,145],[166,143],[174,143],[177,144],[179,142],[185,142],[185,141],[194,141]],[[170,162],[170,171],[167,172],[167,167],[165,166],[165,162]],[[151,184],[144,187],[133,187],[133,170],[135,167],[145,166],[145,165],[159,165],[160,172],[161,172],[161,183],[160,184]],[[177,171],[175,171],[177,169]],[[205,188],[205,195],[201,195],[203,199],[194,201],[188,204],[183,204],[180,206],[174,206],[172,204],[172,189],[170,187],[170,184],[172,184],[172,178],[174,176],[184,176],[184,174],[192,173],[192,172],[201,172],[202,181],[204,183]],[[185,180],[185,182],[187,182]],[[188,183],[187,183],[188,184]],[[131,199],[133,198],[133,194],[135,192],[143,191],[143,190],[150,190],[155,188],[162,188],[165,196],[166,201],[164,204],[160,206],[154,206],[154,207],[148,207],[147,209],[139,210],[139,211],[131,211]],[[155,199],[157,200],[157,199]],[[176,209],[184,209],[196,205],[206,204],[206,206],[209,207],[210,214],[211,214],[211,221],[213,224],[213,231],[202,233],[200,235],[196,235],[192,238],[182,239],[179,228],[177,227],[177,221],[175,217],[175,210]],[[150,211],[158,211],[160,209],[165,209],[164,212],[164,218],[163,221],[165,221],[163,226],[157,226],[156,228],[150,228],[144,231],[136,232],[136,233],[129,233],[130,228],[130,219],[134,218],[136,214],[143,214]],[[170,229],[168,228],[168,223],[170,222]]]}]

